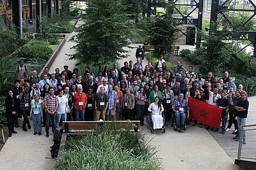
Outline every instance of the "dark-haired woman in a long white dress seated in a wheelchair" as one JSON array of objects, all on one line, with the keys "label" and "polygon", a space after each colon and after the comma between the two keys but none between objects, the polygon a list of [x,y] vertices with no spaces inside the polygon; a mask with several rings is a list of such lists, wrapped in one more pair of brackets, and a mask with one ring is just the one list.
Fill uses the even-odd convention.
[{"label": "dark-haired woman in a long white dress seated in a wheelchair", "polygon": [[158,96],[155,97],[155,102],[151,103],[148,107],[148,111],[152,111],[153,129],[163,128],[162,112],[164,111],[163,105],[160,103]]}]

